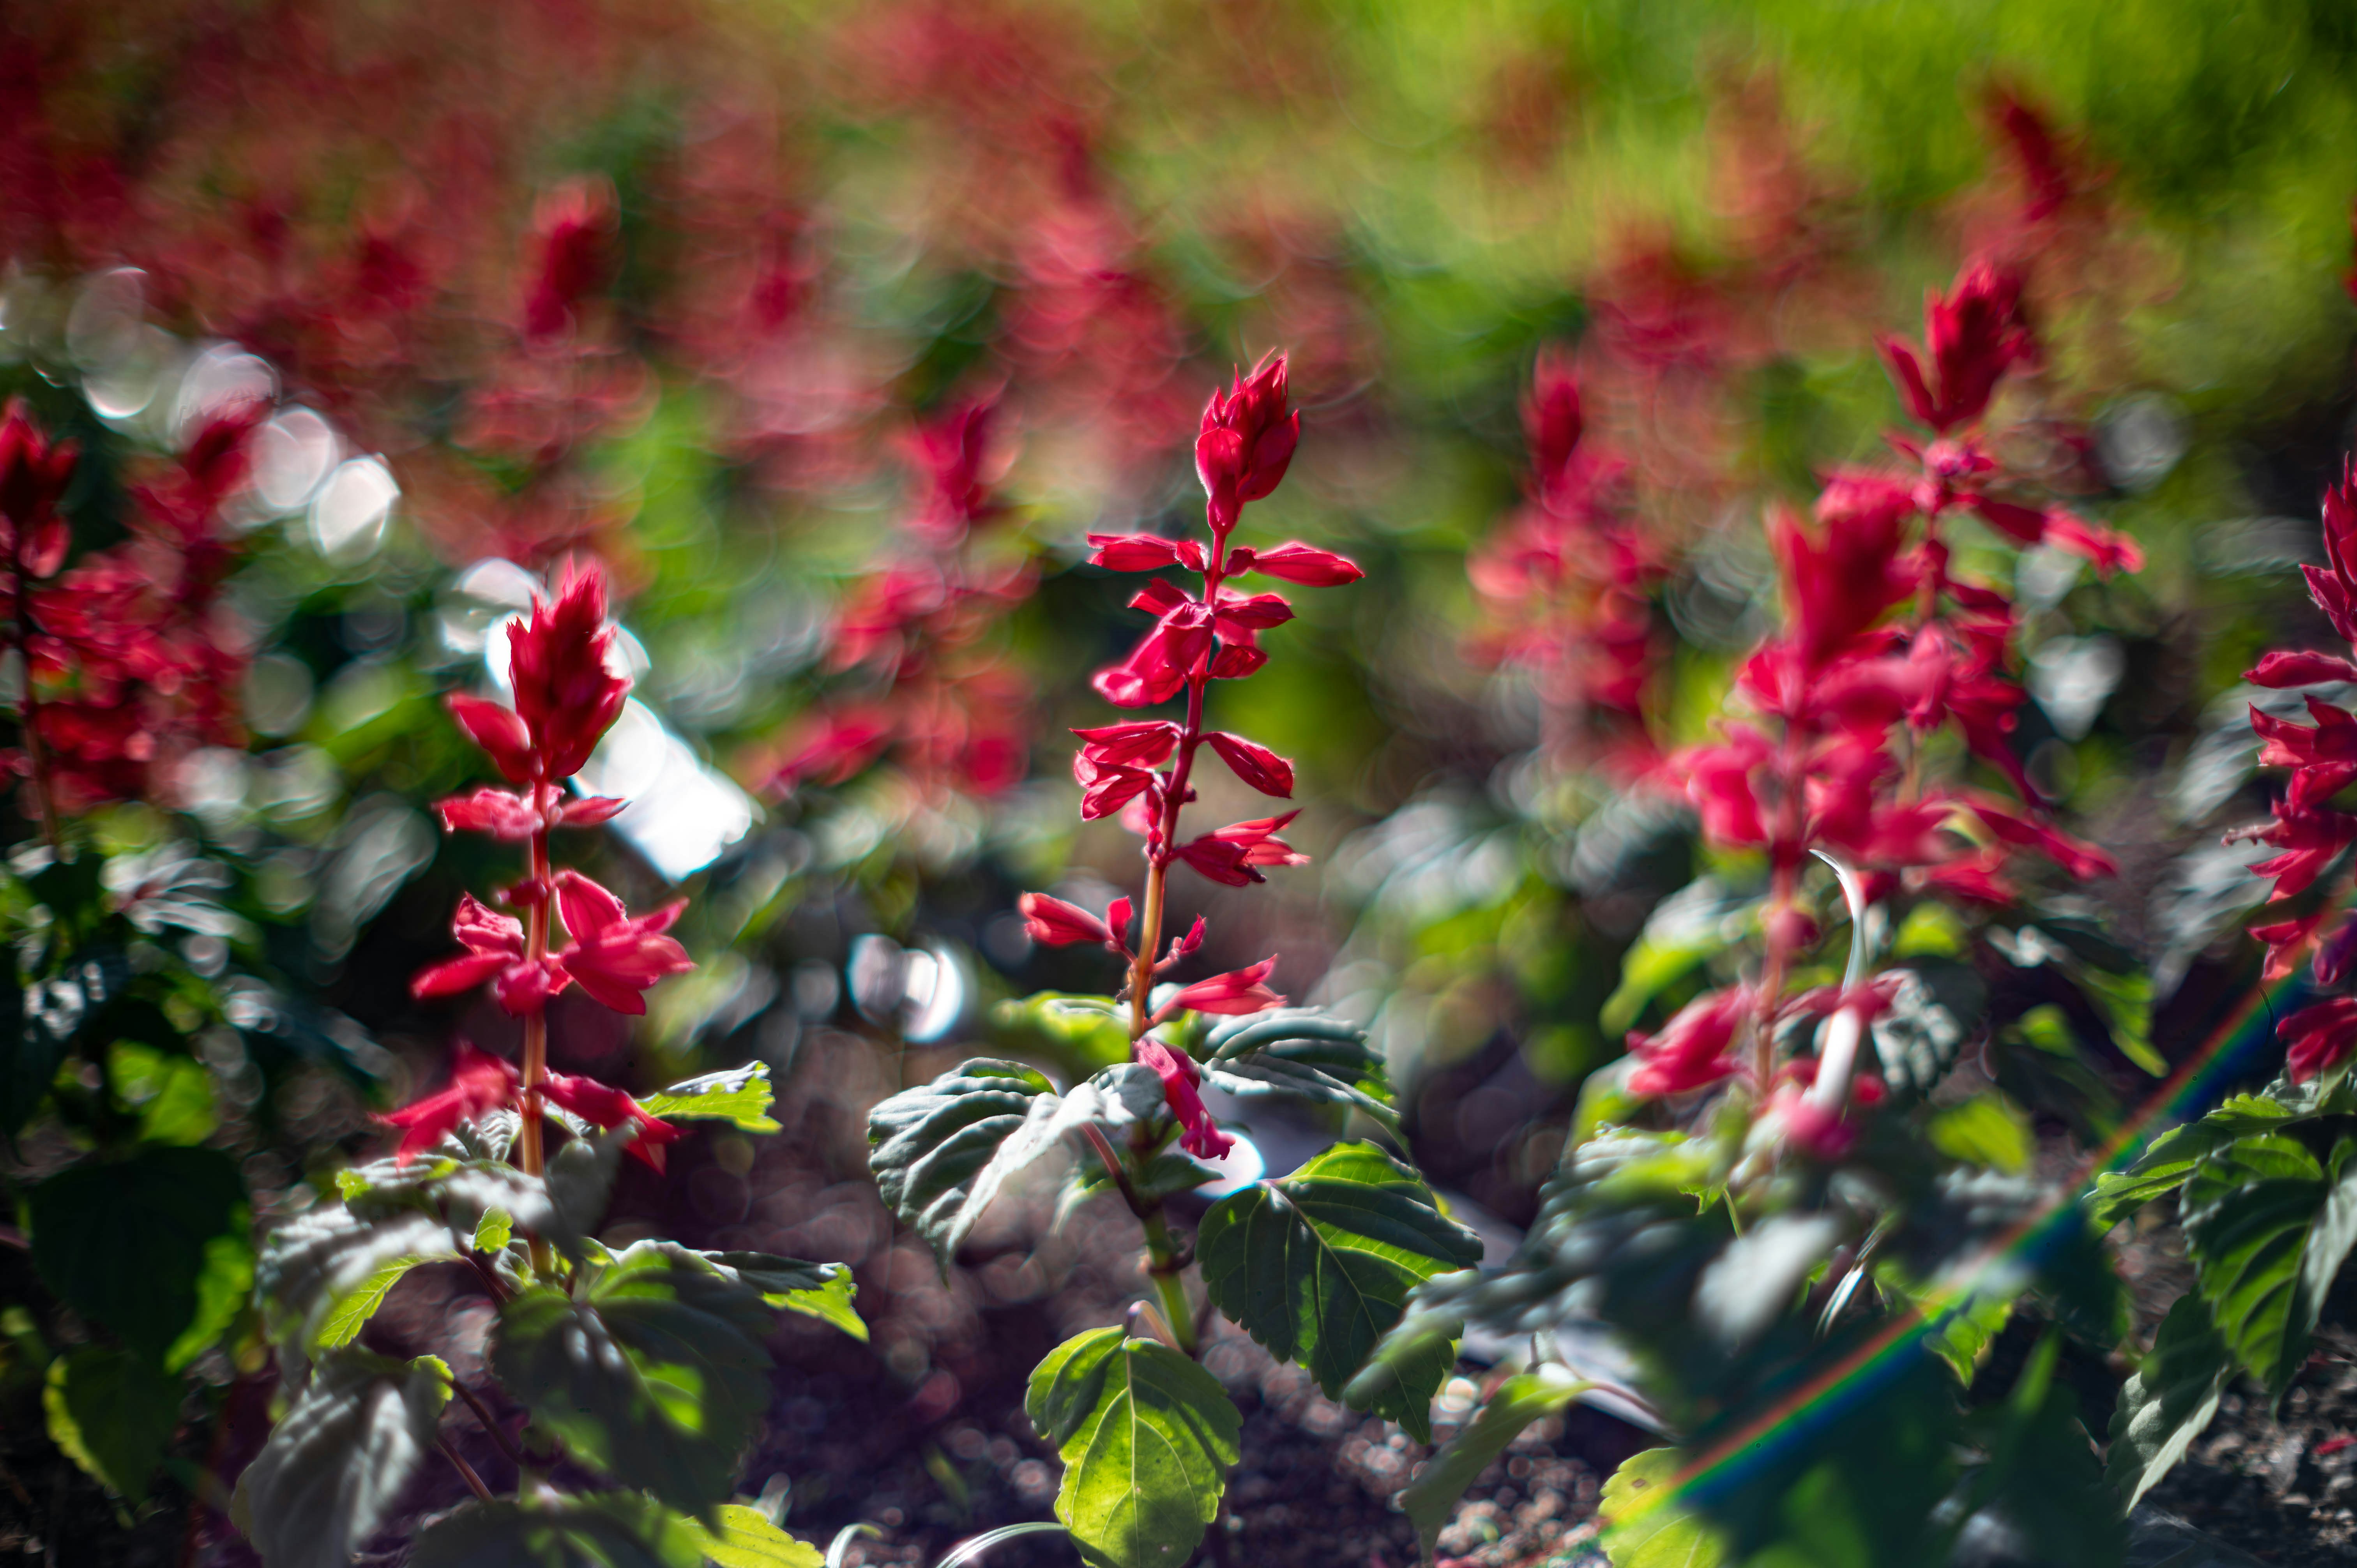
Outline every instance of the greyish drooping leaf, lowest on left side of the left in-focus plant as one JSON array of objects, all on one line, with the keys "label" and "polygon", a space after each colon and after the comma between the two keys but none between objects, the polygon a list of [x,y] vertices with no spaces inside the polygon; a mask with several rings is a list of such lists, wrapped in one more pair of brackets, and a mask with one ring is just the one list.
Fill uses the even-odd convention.
[{"label": "greyish drooping leaf, lowest on left side of the left in-focus plant", "polygon": [[441,1363],[335,1351],[238,1478],[231,1516],[266,1568],[346,1568],[434,1445]]}]

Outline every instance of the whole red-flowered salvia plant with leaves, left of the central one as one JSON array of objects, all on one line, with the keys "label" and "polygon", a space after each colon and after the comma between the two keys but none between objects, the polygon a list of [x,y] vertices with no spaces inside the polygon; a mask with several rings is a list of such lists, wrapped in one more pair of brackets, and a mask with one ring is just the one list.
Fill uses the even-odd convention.
[{"label": "whole red-flowered salvia plant with leaves, left of the central one", "polygon": [[[566,986],[639,1014],[653,983],[691,967],[665,936],[679,903],[632,917],[549,861],[552,830],[603,823],[625,804],[568,797],[563,785],[629,691],[603,573],[573,571],[552,601],[535,599],[530,620],[509,627],[507,670],[511,705],[460,693],[450,712],[516,788],[481,788],[438,811],[450,830],[526,844],[523,877],[500,894],[523,920],[464,896],[453,929],[467,957],[422,971],[415,990],[488,983],[523,1021],[523,1066],[460,1042],[441,1092],[382,1118],[401,1129],[394,1155],[337,1172],[339,1203],[264,1243],[255,1287],[285,1410],[238,1481],[238,1526],[273,1568],[344,1563],[438,1452],[476,1502],[417,1535],[420,1563],[816,1563],[771,1516],[728,1497],[768,1403],[773,1313],[865,1339],[849,1269],[596,1240],[618,1160],[627,1151],[662,1170],[665,1144],[681,1137],[674,1120],[775,1129],[768,1068],[688,1080],[641,1103],[547,1063],[547,1004]],[[554,1153],[549,1122],[566,1134]],[[387,1294],[429,1266],[474,1271],[497,1304],[481,1346],[488,1401],[441,1356],[403,1361],[361,1344]],[[507,1497],[443,1436],[453,1396],[507,1462]],[[559,1485],[561,1467],[606,1485]]]}]

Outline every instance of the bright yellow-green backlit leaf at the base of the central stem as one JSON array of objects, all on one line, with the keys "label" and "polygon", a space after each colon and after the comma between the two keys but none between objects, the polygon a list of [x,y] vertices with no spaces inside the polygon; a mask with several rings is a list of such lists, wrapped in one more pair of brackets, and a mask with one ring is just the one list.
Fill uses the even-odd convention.
[{"label": "bright yellow-green backlit leaf at the base of the central stem", "polygon": [[1244,1431],[1216,1377],[1117,1327],[1049,1351],[1023,1412],[1063,1455],[1056,1518],[1084,1561],[1110,1568],[1186,1563],[1219,1514]]}]

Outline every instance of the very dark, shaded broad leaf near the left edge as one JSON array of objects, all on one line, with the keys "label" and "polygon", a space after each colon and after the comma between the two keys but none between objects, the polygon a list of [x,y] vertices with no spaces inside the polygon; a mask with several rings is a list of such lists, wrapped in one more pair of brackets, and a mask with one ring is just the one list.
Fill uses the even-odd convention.
[{"label": "very dark, shaded broad leaf near the left edge", "polygon": [[240,1233],[245,1186],[217,1148],[141,1148],[33,1186],[33,1269],[73,1311],[160,1358],[198,1316],[205,1247]]}]

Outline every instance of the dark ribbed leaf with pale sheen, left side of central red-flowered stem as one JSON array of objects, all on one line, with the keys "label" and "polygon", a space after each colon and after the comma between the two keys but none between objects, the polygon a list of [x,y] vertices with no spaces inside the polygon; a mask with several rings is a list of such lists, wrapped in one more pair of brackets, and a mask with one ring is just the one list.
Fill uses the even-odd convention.
[{"label": "dark ribbed leaf with pale sheen, left side of central red-flowered stem", "polygon": [[[1056,1087],[1018,1061],[964,1061],[929,1085],[903,1089],[867,1113],[867,1170],[893,1214],[948,1264],[1006,1167],[999,1148],[1047,1153],[1061,1111]],[[983,1177],[990,1177],[985,1184]]]}]

